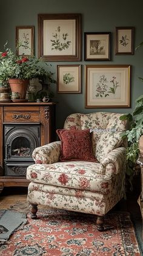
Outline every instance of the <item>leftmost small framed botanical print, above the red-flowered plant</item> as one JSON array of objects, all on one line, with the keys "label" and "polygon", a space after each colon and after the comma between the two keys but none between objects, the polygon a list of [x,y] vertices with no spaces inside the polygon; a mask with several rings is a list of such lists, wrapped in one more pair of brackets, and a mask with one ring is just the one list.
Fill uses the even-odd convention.
[{"label": "leftmost small framed botanical print, above the red-flowered plant", "polygon": [[17,55],[33,55],[34,26],[16,26]]}]

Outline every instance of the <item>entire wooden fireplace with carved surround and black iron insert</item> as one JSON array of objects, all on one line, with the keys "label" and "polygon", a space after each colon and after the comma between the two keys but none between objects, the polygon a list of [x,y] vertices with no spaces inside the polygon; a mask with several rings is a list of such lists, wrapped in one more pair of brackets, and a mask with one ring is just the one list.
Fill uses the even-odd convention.
[{"label": "entire wooden fireplace with carved surround and black iron insert", "polygon": [[34,148],[55,140],[55,105],[0,104],[0,192],[4,187],[27,186],[27,166],[34,164]]}]

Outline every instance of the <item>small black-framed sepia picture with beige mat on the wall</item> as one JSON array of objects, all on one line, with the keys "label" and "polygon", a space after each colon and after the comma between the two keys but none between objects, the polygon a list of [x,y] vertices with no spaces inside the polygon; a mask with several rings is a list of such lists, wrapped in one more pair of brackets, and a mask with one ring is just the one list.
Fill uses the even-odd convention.
[{"label": "small black-framed sepia picture with beige mat on the wall", "polygon": [[84,60],[110,60],[110,41],[111,32],[85,32]]}]

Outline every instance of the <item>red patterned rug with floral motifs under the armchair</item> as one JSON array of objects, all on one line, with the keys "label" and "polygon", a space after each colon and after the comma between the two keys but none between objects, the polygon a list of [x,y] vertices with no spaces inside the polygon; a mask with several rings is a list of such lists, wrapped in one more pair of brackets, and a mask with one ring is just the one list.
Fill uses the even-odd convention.
[{"label": "red patterned rug with floral motifs under the armchair", "polygon": [[138,256],[139,247],[127,212],[109,213],[112,229],[99,232],[95,215],[56,209],[39,209],[22,230],[0,248],[2,256]]}]

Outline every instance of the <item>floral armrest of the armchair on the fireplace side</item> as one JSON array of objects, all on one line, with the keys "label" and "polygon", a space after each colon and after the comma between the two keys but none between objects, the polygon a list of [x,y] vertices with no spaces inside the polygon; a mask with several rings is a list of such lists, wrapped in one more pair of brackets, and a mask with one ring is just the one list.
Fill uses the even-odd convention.
[{"label": "floral armrest of the armchair on the fireplace side", "polygon": [[36,164],[53,164],[59,161],[61,141],[35,148],[32,157]]}]

